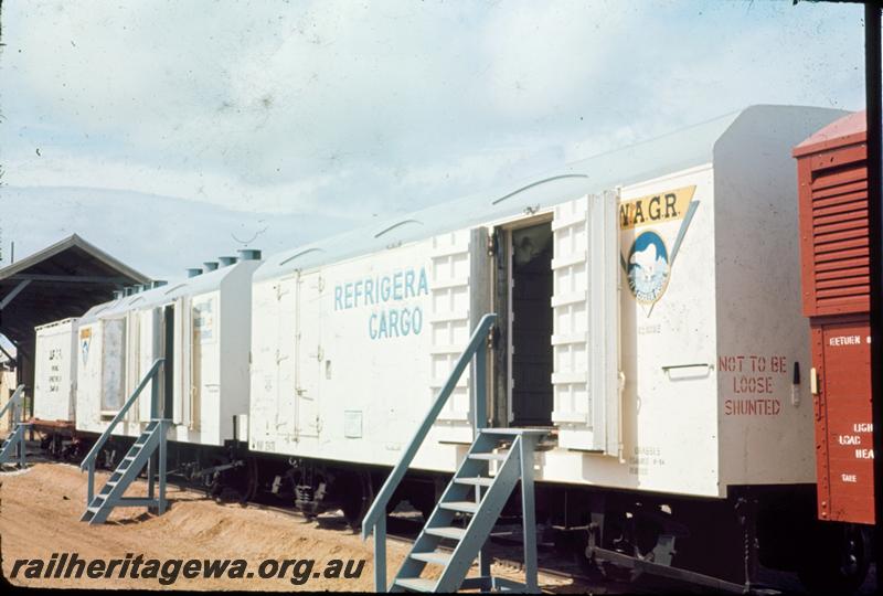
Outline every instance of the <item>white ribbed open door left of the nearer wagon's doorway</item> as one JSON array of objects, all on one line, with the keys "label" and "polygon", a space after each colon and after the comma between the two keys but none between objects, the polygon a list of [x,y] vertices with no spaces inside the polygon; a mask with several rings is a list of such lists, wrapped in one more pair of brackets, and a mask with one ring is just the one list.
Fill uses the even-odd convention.
[{"label": "white ribbed open door left of the nearer wagon's doorway", "polygon": [[[490,311],[490,257],[483,227],[433,238],[429,273],[430,400],[444,386],[472,329]],[[471,371],[466,370],[436,423],[438,440],[472,441]]]}]

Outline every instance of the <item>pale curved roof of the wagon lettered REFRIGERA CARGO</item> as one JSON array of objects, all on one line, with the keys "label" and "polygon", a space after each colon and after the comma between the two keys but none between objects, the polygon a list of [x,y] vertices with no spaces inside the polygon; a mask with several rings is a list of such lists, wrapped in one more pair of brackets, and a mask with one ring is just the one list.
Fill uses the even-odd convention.
[{"label": "pale curved roof of the wagon lettered REFRIGERA CARGO", "polygon": [[[524,212],[549,207],[593,192],[711,163],[716,142],[733,125],[751,113],[748,126],[774,129],[779,117],[827,119],[844,114],[796,106],[752,106],[681,130],[628,147],[561,166],[520,182],[486,189],[443,202],[415,213],[361,227],[269,256],[255,273],[255,280],[280,277],[295,269],[317,267],[414,242],[435,234],[462,230]],[[762,124],[758,124],[762,123]]]}]

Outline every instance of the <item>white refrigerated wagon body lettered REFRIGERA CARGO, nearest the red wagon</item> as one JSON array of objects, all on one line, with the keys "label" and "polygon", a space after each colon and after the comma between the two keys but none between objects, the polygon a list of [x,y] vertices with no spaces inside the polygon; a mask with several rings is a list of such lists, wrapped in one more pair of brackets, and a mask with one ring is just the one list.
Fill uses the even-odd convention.
[{"label": "white refrigerated wagon body lettered REFRIGERA CARGO, nearest the red wagon", "polygon": [[[815,481],[790,148],[839,110],[755,106],[267,259],[249,446],[394,465],[499,315],[492,426],[552,429],[538,478],[725,497]],[[465,375],[415,465],[471,441]]]}]

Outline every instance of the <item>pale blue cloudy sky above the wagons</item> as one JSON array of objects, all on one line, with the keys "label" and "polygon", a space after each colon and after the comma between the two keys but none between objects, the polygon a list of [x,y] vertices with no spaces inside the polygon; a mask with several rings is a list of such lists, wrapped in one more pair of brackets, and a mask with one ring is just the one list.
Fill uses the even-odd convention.
[{"label": "pale blue cloudy sky above the wagons", "polygon": [[[284,249],[751,104],[860,109],[861,15],[790,0],[6,2],[0,242],[23,254],[77,232],[167,275],[228,253],[234,232]],[[159,198],[217,228],[189,233]],[[137,221],[108,226],[102,205]],[[171,223],[161,255],[127,238]]]}]

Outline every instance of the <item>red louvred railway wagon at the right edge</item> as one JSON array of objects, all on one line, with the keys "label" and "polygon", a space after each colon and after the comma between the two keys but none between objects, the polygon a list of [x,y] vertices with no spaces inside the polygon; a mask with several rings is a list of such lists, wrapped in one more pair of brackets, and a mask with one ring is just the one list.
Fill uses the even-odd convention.
[{"label": "red louvred railway wagon at the right edge", "polygon": [[812,338],[818,514],[874,523],[866,125],[863,111],[794,150],[802,308]]}]

